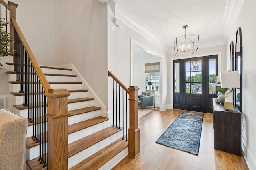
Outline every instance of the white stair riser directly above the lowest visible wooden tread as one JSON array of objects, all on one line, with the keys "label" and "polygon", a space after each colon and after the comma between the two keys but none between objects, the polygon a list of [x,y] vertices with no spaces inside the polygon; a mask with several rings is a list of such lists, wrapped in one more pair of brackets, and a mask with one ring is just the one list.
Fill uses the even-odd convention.
[{"label": "white stair riser directly above the lowest visible wooden tread", "polygon": [[[82,150],[81,152],[78,152],[74,156],[71,156],[68,158],[68,168],[71,168],[81,162],[82,160],[88,158],[92,154],[98,152],[99,150],[103,149],[104,147],[110,145],[112,142],[116,141],[117,139],[120,139],[122,137],[122,131],[119,131],[118,133],[115,133],[114,135],[111,135],[110,137],[92,145],[91,147]],[[123,140],[126,142],[125,140]]]}]

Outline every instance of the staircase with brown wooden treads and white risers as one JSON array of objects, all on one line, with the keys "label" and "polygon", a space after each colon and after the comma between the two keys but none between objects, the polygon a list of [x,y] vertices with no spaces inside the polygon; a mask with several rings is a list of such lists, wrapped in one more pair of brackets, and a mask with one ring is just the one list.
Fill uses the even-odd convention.
[{"label": "staircase with brown wooden treads and white risers", "polygon": [[[6,63],[9,68],[13,63]],[[83,82],[72,74],[72,69],[40,66],[52,89],[65,88],[68,96],[68,168],[70,170],[110,169],[128,154],[128,142],[123,139],[122,127],[112,127],[112,121],[103,117],[102,109],[94,106],[94,97],[82,89]],[[13,70],[13,69],[10,69]],[[19,93],[16,72],[8,71],[8,82],[13,102],[11,111],[28,117],[23,106],[23,93]],[[79,78],[80,79],[80,78]],[[81,79],[80,79],[81,80]],[[47,123],[47,122],[46,122]],[[26,164],[30,170],[43,170],[38,161],[39,143],[32,139],[32,123],[28,123]],[[44,142],[47,142],[44,141]]]}]

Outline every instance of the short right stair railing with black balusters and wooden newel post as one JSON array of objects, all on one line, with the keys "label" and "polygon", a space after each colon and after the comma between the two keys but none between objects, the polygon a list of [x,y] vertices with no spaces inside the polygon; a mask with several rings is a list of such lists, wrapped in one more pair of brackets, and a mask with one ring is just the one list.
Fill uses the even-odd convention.
[{"label": "short right stair railing with black balusters and wooden newel post", "polygon": [[[124,113],[126,113],[126,141],[128,141],[128,154],[135,158],[136,156],[138,156],[138,154],[140,154],[140,128],[138,127],[138,90],[139,88],[138,86],[130,86],[129,88],[127,88],[111,71],[108,71],[108,76],[112,77],[113,79],[113,83],[112,83],[113,127],[120,128],[122,124],[122,128],[123,128],[122,139],[124,139],[124,121],[125,121]],[[120,88],[122,88],[121,91],[120,91]],[[126,95],[124,95],[124,92],[126,92]],[[129,95],[129,99],[127,98],[127,95]],[[126,99],[124,100],[124,98]],[[121,99],[122,99],[122,103],[120,103]],[[128,129],[128,122],[127,122],[128,100],[129,100],[129,129]],[[124,111],[125,110],[124,107],[126,107],[126,111]],[[121,108],[122,108],[122,113],[120,112]]]}]

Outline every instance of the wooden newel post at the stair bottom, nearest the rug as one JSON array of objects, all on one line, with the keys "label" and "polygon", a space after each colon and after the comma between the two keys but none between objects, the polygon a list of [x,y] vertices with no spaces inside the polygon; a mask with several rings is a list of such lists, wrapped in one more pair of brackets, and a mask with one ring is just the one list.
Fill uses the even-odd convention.
[{"label": "wooden newel post at the stair bottom, nearest the rug", "polygon": [[128,154],[134,158],[140,154],[140,128],[138,127],[138,86],[129,88],[130,115],[128,129]]}]

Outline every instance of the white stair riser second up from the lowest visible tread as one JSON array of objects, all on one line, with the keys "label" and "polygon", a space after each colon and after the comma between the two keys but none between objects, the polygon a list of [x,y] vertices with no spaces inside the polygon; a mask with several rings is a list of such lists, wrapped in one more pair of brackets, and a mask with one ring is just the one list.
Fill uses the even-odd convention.
[{"label": "white stair riser second up from the lowest visible tread", "polygon": [[88,135],[91,135],[92,133],[100,131],[104,128],[107,128],[108,126],[109,125],[108,125],[107,121],[104,121],[104,122],[99,123],[97,125],[88,127],[86,129],[82,129],[82,130],[74,132],[74,133],[71,133],[71,134],[68,135],[68,144],[72,143],[74,141],[77,141],[78,139],[81,139],[83,137],[86,137]]}]

